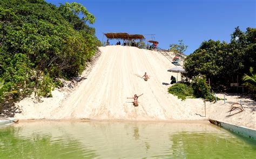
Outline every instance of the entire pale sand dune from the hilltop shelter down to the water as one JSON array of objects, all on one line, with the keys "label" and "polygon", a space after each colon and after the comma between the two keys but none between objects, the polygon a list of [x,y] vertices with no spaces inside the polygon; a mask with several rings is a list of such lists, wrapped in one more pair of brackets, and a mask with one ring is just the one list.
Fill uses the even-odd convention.
[{"label": "entire pale sand dune from the hilltop shelter down to the water", "polygon": [[[24,99],[19,105],[23,112],[19,119],[125,119],[125,120],[169,120],[204,119],[204,104],[201,99],[181,101],[167,93],[171,75],[167,69],[176,67],[159,52],[127,46],[101,47],[99,57],[90,74],[71,93],[53,92],[53,98],[33,104]],[[140,78],[147,72],[150,79]],[[180,79],[180,75],[178,76]],[[167,85],[169,84],[169,85]],[[139,97],[139,106],[134,107],[134,94]],[[60,97],[60,98],[58,98]],[[237,102],[237,101],[235,101]],[[207,104],[207,118],[226,119],[229,106]],[[215,108],[221,111],[215,112]],[[210,111],[211,110],[211,111]],[[238,115],[241,115],[238,114]],[[249,110],[242,115],[255,120]],[[248,116],[250,117],[248,119]],[[232,120],[231,120],[232,121]],[[244,123],[244,122],[241,122]],[[247,125],[247,124],[246,124]],[[252,125],[252,127],[255,126]]]}]

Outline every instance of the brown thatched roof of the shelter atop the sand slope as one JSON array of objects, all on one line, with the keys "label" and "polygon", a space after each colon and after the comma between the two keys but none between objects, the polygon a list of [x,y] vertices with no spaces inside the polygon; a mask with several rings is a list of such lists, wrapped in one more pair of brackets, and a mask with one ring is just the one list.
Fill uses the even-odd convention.
[{"label": "brown thatched roof of the shelter atop the sand slope", "polygon": [[144,39],[140,34],[128,34],[128,33],[104,33],[108,39]]}]

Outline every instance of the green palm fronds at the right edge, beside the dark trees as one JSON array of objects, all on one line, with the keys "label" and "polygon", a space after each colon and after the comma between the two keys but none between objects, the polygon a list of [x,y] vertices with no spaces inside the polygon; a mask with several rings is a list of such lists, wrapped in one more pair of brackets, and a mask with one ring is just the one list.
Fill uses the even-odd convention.
[{"label": "green palm fronds at the right edge, beside the dark trees", "polygon": [[253,93],[253,96],[255,97],[255,91],[256,91],[256,74],[253,73],[253,67],[250,67],[250,73],[252,76],[244,75],[242,77],[243,83],[242,85],[247,86],[247,88]]}]

